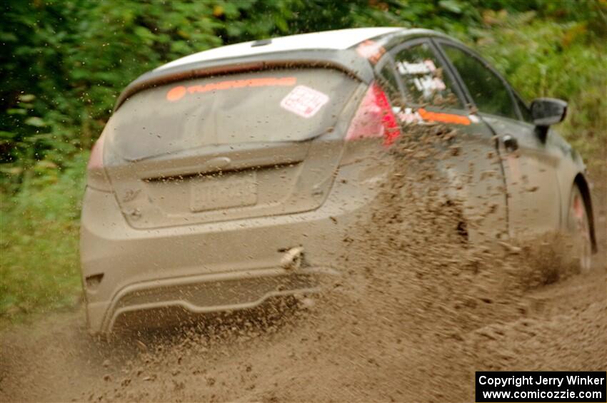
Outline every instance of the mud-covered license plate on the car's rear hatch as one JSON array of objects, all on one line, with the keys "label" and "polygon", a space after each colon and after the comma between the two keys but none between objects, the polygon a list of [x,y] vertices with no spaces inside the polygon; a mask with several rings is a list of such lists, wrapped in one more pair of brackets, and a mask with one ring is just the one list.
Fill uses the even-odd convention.
[{"label": "mud-covered license plate on the car's rear hatch", "polygon": [[190,209],[193,212],[255,205],[256,175],[246,173],[192,180],[190,195]]}]

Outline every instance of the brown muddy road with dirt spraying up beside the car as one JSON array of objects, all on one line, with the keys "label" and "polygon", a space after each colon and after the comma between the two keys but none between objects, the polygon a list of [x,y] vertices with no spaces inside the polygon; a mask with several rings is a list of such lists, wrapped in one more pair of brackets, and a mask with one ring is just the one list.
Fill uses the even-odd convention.
[{"label": "brown muddy road with dirt spraying up beside the car", "polygon": [[606,370],[604,190],[580,273],[562,235],[467,243],[416,147],[391,155],[423,157],[386,180],[326,292],[113,340],[89,337],[83,310],[15,327],[0,400],[471,402],[476,370]]}]

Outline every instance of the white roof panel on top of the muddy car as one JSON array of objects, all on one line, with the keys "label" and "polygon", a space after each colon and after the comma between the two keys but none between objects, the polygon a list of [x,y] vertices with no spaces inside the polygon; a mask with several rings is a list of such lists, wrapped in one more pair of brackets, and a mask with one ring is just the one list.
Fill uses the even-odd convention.
[{"label": "white roof panel on top of the muddy car", "polygon": [[401,28],[353,28],[338,29],[336,31],[312,32],[311,34],[273,38],[271,44],[253,47],[251,47],[251,44],[255,41],[242,42],[241,44],[221,46],[219,48],[178,58],[175,61],[171,61],[170,63],[166,63],[159,68],[156,68],[156,71],[198,61],[211,61],[221,58],[274,53],[279,51],[292,51],[297,49],[348,49],[366,39],[389,34],[390,32],[398,31],[400,29]]}]

